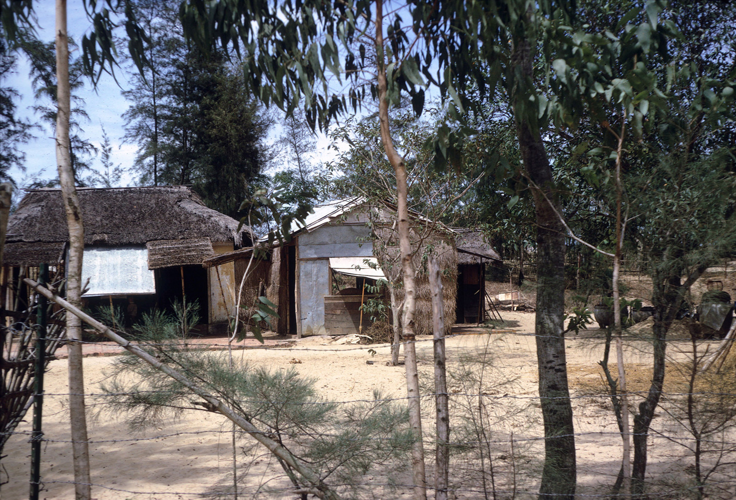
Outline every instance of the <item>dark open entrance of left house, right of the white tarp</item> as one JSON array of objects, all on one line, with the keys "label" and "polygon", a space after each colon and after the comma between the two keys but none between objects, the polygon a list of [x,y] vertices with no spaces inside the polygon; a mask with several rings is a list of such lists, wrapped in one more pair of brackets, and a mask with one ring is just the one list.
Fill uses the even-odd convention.
[{"label": "dark open entrance of left house, right of the white tarp", "polygon": [[156,301],[159,309],[171,312],[174,302],[182,301],[182,274],[187,304],[197,301],[199,323],[208,324],[207,270],[201,265],[176,265],[155,270]]}]

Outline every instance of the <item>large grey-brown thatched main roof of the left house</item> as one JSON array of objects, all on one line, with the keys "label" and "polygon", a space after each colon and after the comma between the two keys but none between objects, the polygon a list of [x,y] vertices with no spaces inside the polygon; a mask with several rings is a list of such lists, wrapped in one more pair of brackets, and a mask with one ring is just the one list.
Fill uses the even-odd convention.
[{"label": "large grey-brown thatched main roof of the left house", "polygon": [[[145,245],[155,240],[202,237],[217,242],[232,241],[236,246],[244,243],[242,232],[238,232],[238,221],[205,207],[189,187],[78,188],[77,192],[85,225],[85,245]],[[61,191],[29,190],[10,217],[7,241],[67,240]]]}]

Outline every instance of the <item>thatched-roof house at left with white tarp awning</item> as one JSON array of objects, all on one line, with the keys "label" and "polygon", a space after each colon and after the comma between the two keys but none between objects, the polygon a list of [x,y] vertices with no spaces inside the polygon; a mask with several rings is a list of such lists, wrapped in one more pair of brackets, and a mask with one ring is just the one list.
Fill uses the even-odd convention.
[{"label": "thatched-roof house at left with white tarp awning", "polygon": [[[160,307],[186,296],[199,301],[205,322],[227,321],[226,290],[234,271],[208,276],[201,265],[252,244],[248,232],[238,231],[238,221],[206,207],[185,186],[77,188],[77,193],[85,226],[82,274],[91,278],[85,296],[136,296]],[[61,191],[28,190],[8,222],[3,265],[61,264],[67,241]]]}]

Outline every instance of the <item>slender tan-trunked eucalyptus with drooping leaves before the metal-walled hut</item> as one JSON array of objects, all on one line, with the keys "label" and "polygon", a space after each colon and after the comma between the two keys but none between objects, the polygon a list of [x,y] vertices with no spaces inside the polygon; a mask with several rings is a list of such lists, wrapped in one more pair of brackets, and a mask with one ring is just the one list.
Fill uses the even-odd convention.
[{"label": "slender tan-trunked eucalyptus with drooping leaves before the metal-walled hut", "polygon": [[[419,384],[414,349],[416,310],[415,271],[407,207],[406,165],[392,140],[389,107],[402,94],[414,111],[424,107],[425,79],[420,68],[431,65],[410,38],[411,7],[389,2],[322,1],[245,4],[223,0],[193,0],[183,7],[185,32],[199,49],[213,40],[247,51],[244,71],[252,91],[265,104],[274,103],[291,115],[302,105],[308,123],[324,129],[364,102],[378,107],[381,142],[394,169],[397,187],[397,226],[405,286],[403,338],[406,340],[407,391],[414,445],[414,496],[425,498],[424,457]],[[386,8],[386,10],[384,10]],[[375,52],[375,57],[372,54]],[[371,54],[367,57],[367,54]],[[344,86],[344,88],[343,88]]]}]

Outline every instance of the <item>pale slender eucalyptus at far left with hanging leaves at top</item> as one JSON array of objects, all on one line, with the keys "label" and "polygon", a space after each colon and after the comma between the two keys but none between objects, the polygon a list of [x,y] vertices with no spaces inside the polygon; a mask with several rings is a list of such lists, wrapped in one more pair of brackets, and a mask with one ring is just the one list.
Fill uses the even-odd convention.
[{"label": "pale slender eucalyptus at far left with hanging leaves at top", "polygon": [[[3,0],[0,3],[0,23],[3,37],[15,46],[26,35],[35,31],[35,3],[32,0]],[[142,53],[145,35],[135,22],[135,15],[127,9],[128,4],[107,0],[104,4],[85,1],[88,16],[94,31],[82,39],[83,68],[92,76],[93,82],[99,79],[102,71],[112,70],[115,51],[113,48],[113,21],[116,13],[125,14],[124,24],[130,39],[129,49],[138,65],[144,63]],[[82,254],[84,251],[84,225],[82,210],[79,207],[77,189],[74,182],[74,169],[71,160],[71,141],[69,138],[69,119],[71,115],[71,79],[69,76],[69,39],[66,26],[66,0],[55,2],[55,49],[56,49],[56,126],[55,143],[57,171],[61,186],[69,232],[69,252],[66,262],[66,296],[72,304],[80,304],[82,296]],[[113,15],[113,18],[110,16]],[[77,499],[91,498],[89,474],[89,451],[85,416],[84,376],[82,371],[82,324],[75,315],[66,317],[66,335],[69,343],[69,412],[71,441],[74,460],[74,489]]]}]

